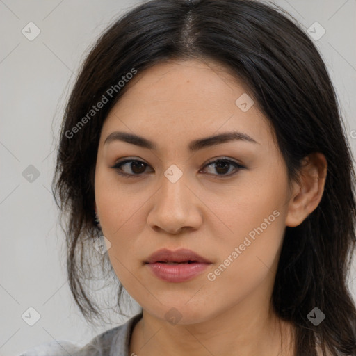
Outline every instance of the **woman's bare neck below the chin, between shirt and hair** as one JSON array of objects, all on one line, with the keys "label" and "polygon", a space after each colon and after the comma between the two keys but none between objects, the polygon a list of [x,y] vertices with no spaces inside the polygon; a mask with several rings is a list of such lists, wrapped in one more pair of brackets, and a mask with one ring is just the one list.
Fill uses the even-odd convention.
[{"label": "woman's bare neck below the chin, between shirt and hair", "polygon": [[171,325],[143,310],[131,336],[129,355],[294,356],[293,327],[273,308],[241,302],[207,321]]}]

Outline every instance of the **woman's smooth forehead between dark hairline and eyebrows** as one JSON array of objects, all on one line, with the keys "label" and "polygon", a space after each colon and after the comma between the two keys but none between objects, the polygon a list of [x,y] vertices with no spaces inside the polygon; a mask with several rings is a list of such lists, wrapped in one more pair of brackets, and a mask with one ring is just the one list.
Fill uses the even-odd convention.
[{"label": "woman's smooth forehead between dark hairline and eyebrows", "polygon": [[102,136],[124,130],[155,142],[166,139],[172,143],[175,138],[191,141],[238,130],[260,143],[270,141],[268,122],[257,103],[242,111],[236,100],[252,101],[246,96],[248,90],[216,62],[159,63],[138,72],[126,86],[104,122]]}]

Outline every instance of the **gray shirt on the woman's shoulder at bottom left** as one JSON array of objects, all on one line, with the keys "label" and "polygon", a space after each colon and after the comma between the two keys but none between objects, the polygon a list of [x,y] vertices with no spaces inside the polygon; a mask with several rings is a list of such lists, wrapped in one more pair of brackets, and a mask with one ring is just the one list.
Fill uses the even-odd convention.
[{"label": "gray shirt on the woman's shoulder at bottom left", "polygon": [[131,356],[131,334],[140,318],[142,312],[132,316],[126,323],[97,335],[85,346],[71,341],[54,340],[26,350],[18,356]]}]

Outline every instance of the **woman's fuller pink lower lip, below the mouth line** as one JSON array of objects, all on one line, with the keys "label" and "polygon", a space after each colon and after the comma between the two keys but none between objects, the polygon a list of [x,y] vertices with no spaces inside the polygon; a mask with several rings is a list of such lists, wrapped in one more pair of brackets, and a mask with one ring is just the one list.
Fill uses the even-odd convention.
[{"label": "woman's fuller pink lower lip, below the mouth line", "polygon": [[156,277],[167,282],[185,282],[200,275],[209,264],[195,262],[193,264],[147,264]]}]

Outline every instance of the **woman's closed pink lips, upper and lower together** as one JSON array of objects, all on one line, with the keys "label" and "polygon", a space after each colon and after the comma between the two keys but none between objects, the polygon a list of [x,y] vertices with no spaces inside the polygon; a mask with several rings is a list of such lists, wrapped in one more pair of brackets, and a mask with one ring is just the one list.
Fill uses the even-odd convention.
[{"label": "woman's closed pink lips, upper and lower together", "polygon": [[[179,264],[169,264],[172,262]],[[211,261],[184,248],[176,251],[163,248],[154,252],[145,261],[145,264],[161,280],[166,282],[185,282],[200,275],[211,264]]]}]

